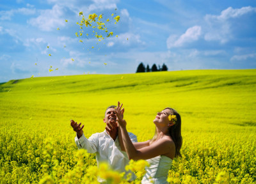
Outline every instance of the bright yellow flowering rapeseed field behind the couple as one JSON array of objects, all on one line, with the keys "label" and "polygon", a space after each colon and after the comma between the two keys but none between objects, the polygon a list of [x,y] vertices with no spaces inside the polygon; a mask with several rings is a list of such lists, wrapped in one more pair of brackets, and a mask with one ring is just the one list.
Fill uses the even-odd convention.
[{"label": "bright yellow flowering rapeseed field behind the couple", "polygon": [[[256,70],[76,75],[6,82],[0,85],[0,180],[38,182],[52,172],[47,163],[54,157],[61,169],[54,181],[62,181],[76,165],[70,119],[82,122],[89,137],[104,130],[106,107],[120,101],[127,129],[138,141],[154,135],[152,120],[157,112],[172,107],[180,113],[183,157],[173,162],[171,183],[256,182],[255,84]],[[49,142],[52,153],[44,153]]]}]

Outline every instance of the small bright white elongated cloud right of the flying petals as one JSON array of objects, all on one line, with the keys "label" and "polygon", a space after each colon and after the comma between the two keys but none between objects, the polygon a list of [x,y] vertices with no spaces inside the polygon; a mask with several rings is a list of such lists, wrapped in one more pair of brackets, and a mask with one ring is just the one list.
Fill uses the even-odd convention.
[{"label": "small bright white elongated cloud right of the flying petals", "polygon": [[167,48],[172,47],[182,47],[184,43],[194,42],[199,39],[201,35],[201,26],[193,26],[187,29],[186,33],[182,34],[180,37],[176,35],[171,35],[167,39]]}]

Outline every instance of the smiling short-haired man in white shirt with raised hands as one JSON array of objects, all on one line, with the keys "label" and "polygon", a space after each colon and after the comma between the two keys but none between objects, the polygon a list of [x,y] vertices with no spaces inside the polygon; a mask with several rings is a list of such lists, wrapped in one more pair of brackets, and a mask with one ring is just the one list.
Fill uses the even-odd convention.
[{"label": "smiling short-haired man in white shirt with raised hands", "polygon": [[[125,172],[125,175],[131,172],[125,171],[125,165],[129,164],[129,159],[125,151],[121,151],[118,141],[118,127],[116,123],[116,106],[111,105],[106,109],[105,118],[106,130],[104,132],[92,134],[87,139],[83,134],[84,125],[81,127],[81,123],[77,124],[71,120],[71,126],[77,133],[75,142],[78,149],[86,149],[88,153],[96,153],[97,164],[100,162],[108,162],[112,169]],[[129,137],[132,142],[137,142],[136,135],[129,133]],[[135,179],[134,173],[132,173],[131,180]],[[102,182],[104,180],[100,180]]]}]

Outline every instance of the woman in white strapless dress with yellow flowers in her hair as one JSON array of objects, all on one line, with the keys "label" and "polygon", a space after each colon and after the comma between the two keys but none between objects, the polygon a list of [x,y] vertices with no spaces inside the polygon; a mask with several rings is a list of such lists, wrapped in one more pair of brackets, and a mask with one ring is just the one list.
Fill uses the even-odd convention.
[{"label": "woman in white strapless dress with yellow flowers in her hair", "polygon": [[[122,104],[123,105],[123,104]],[[158,112],[154,123],[156,132],[153,139],[145,142],[131,142],[126,130],[126,121],[123,119],[124,108],[120,102],[116,107],[118,117],[118,137],[122,151],[126,151],[129,159],[147,160],[150,167],[141,183],[168,183],[168,171],[175,157],[181,157],[180,148],[182,137],[180,134],[181,119],[177,111],[167,107]]]}]

